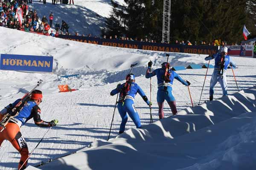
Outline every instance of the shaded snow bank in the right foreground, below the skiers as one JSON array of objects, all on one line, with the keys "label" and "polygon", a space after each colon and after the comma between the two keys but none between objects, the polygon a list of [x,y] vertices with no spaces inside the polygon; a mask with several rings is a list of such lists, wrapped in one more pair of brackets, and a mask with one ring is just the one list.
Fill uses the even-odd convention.
[{"label": "shaded snow bank in the right foreground, below the skiers", "polygon": [[255,132],[256,88],[250,88],[130,129],[108,142],[93,142],[91,148],[40,168],[250,169],[256,166]]}]

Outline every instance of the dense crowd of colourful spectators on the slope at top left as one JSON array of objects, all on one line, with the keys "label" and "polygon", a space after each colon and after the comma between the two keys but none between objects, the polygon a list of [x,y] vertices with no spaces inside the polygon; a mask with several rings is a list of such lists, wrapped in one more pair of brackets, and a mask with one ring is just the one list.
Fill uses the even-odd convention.
[{"label": "dense crowd of colourful spectators on the slope at top left", "polygon": [[[58,37],[58,31],[61,28],[61,31],[65,30],[66,34],[68,34],[69,25],[64,20],[62,20],[61,26],[60,23],[55,24],[55,33],[53,33],[53,13],[51,12],[49,14],[48,19],[44,16],[40,20],[37,11],[33,11],[32,8],[29,10],[27,3],[32,3],[32,0],[29,0],[29,2],[27,0],[0,0],[0,26],[50,35],[52,37]],[[19,20],[17,11],[21,11],[21,21]]]}]

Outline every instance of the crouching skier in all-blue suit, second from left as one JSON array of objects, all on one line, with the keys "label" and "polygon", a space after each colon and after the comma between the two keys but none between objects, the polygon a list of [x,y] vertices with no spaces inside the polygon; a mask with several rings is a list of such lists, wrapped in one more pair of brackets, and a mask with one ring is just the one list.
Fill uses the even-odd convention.
[{"label": "crouching skier in all-blue suit, second from left", "polygon": [[110,95],[113,96],[120,92],[120,96],[119,96],[119,100],[118,100],[118,104],[117,104],[119,114],[122,118],[122,122],[121,122],[120,129],[119,129],[119,134],[121,134],[125,131],[125,124],[128,120],[127,113],[133,120],[136,127],[137,128],[141,127],[140,116],[134,106],[134,98],[137,93],[139,93],[140,96],[142,96],[143,100],[149,106],[152,105],[152,103],[148,101],[147,96],[145,95],[143,90],[140,88],[140,86],[137,83],[135,83],[135,78],[134,78],[133,74],[128,74],[126,76],[126,80],[129,81],[129,89],[127,89],[127,92],[125,93],[125,95],[123,95],[123,96],[121,95],[125,91],[125,89],[124,89],[125,83],[123,83],[122,85],[120,85],[120,84],[117,85],[117,87],[114,90],[112,90],[110,93]]}]

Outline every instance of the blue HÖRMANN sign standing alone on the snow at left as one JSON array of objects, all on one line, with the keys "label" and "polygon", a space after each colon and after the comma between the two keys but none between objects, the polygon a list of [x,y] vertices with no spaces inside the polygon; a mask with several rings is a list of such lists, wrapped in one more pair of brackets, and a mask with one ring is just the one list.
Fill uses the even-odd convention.
[{"label": "blue H\u00d6RMANN sign standing alone on the snow at left", "polygon": [[53,57],[1,54],[0,70],[52,72]]}]

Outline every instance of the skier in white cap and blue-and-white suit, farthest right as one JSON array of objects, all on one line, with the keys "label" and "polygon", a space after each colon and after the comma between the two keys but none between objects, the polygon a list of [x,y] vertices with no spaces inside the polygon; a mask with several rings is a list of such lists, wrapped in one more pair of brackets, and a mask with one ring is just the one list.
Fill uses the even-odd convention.
[{"label": "skier in white cap and blue-and-white suit, farthest right", "polygon": [[[224,63],[224,69],[223,69],[223,75],[219,75],[219,68],[220,68],[220,60],[222,54],[225,53],[225,63]],[[216,85],[217,82],[221,84],[223,96],[227,96],[227,79],[226,79],[226,71],[228,65],[233,66],[234,68],[236,67],[236,64],[231,60],[231,57],[227,55],[227,47],[223,47],[221,49],[221,53],[217,53],[214,55],[209,55],[208,57],[205,58],[205,60],[210,60],[210,59],[215,59],[215,66],[214,66],[214,71],[212,73],[212,78],[210,81],[210,90],[209,90],[209,99],[213,100],[213,94],[214,94],[214,86]]]}]

